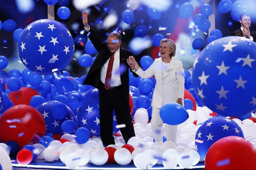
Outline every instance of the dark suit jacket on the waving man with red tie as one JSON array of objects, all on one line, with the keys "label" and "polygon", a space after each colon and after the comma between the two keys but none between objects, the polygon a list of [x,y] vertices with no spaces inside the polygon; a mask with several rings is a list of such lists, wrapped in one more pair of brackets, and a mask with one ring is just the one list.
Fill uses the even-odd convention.
[{"label": "dark suit jacket on the waving man with red tie", "polygon": [[[108,58],[110,58],[111,52],[108,49],[107,43],[101,42],[100,38],[96,35],[92,27],[90,27],[90,35],[88,37],[92,41],[92,44],[95,47],[95,49],[98,51],[98,55],[95,58],[94,62],[92,63],[92,66],[83,84],[88,84],[99,89],[99,85],[101,82],[100,81],[101,66],[103,66],[104,63],[108,60]],[[120,47],[120,66],[126,67],[126,69],[124,69],[125,71],[122,74],[120,74],[120,78],[121,78],[122,88],[124,90],[125,100],[128,103],[129,103],[129,72],[127,68],[130,68],[130,67],[127,64],[126,59],[132,55],[133,55],[132,51],[126,50]],[[132,72],[131,68],[130,68],[130,71]],[[136,73],[132,72],[132,74],[135,77],[139,77]]]}]

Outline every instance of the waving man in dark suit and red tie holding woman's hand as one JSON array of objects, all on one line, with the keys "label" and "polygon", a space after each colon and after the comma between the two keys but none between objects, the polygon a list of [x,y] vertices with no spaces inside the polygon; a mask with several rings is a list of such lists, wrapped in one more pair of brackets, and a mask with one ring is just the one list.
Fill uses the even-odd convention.
[{"label": "waving man in dark suit and red tie holding woman's hand", "polygon": [[[132,51],[120,48],[121,35],[110,33],[108,43],[102,43],[100,38],[88,25],[87,13],[83,12],[84,29],[92,41],[93,46],[98,51],[83,84],[91,85],[99,89],[100,106],[100,136],[105,146],[115,144],[113,137],[113,110],[116,113],[117,124],[124,124],[120,131],[124,141],[135,136],[130,115],[129,105],[129,72],[127,61],[132,56]],[[123,69],[125,67],[126,69]],[[125,70],[120,73],[120,70]],[[132,69],[130,68],[132,72]],[[136,77],[138,75],[134,72]]]}]

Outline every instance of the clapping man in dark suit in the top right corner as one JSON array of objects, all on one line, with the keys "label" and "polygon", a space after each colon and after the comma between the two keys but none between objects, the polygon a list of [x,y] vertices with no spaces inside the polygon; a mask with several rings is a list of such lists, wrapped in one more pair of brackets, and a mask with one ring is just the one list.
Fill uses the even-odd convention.
[{"label": "clapping man in dark suit in the top right corner", "polygon": [[236,31],[233,31],[231,35],[245,37],[256,42],[255,31],[249,29],[251,25],[251,17],[246,13],[242,13],[240,15],[239,22],[241,23],[241,28],[239,28]]}]

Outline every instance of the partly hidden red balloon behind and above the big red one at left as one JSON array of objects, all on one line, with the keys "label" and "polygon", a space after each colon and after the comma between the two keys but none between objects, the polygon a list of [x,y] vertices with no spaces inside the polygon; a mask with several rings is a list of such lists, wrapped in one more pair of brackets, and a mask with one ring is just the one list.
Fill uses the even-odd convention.
[{"label": "partly hidden red balloon behind and above the big red one at left", "polygon": [[12,100],[14,105],[30,105],[30,99],[35,95],[40,95],[40,93],[29,87],[22,87],[19,91],[11,91],[8,97]]}]

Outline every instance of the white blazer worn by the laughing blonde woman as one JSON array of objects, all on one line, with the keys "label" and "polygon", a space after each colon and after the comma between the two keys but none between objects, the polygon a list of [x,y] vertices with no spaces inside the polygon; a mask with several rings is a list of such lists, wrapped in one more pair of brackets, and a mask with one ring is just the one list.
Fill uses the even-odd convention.
[{"label": "white blazer worn by the laughing blonde woman", "polygon": [[162,58],[156,58],[153,64],[145,71],[141,68],[135,73],[142,79],[148,79],[155,75],[156,86],[153,92],[151,105],[161,108],[163,104],[177,102],[178,98],[184,98],[184,68],[181,61],[172,57],[167,71],[162,79]]}]

